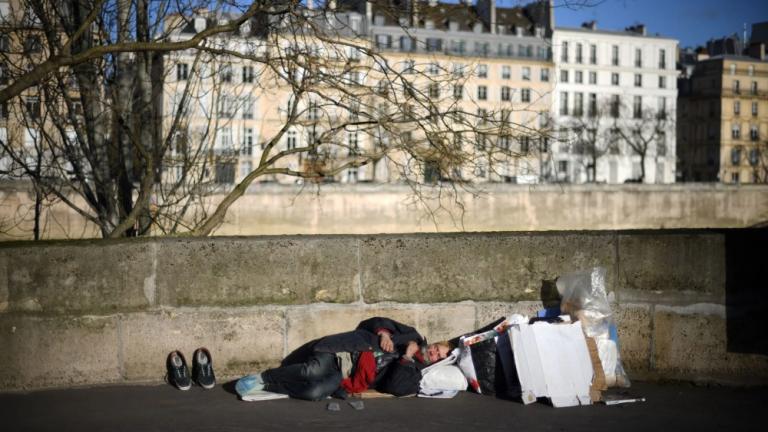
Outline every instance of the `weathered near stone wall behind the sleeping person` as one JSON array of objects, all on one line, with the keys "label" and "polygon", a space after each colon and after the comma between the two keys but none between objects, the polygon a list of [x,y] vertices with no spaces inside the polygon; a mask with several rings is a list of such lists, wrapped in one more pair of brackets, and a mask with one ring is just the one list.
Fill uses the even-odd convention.
[{"label": "weathered near stone wall behind the sleeping person", "polygon": [[[532,314],[607,268],[633,378],[766,383],[766,230],[214,237],[0,245],[0,389],[161,382],[208,347],[220,378],[386,315],[430,340]],[[762,255],[764,256],[764,255]],[[755,265],[753,265],[755,264]]]}]

